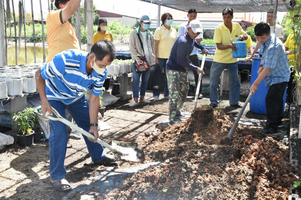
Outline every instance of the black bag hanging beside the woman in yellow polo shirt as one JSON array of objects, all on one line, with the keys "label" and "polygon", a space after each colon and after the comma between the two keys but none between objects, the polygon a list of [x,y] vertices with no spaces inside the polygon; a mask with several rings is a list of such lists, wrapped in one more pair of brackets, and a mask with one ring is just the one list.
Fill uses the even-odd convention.
[{"label": "black bag hanging beside the woman in yellow polo shirt", "polygon": [[147,90],[163,92],[164,86],[164,68],[161,71],[159,65],[155,65],[148,79]]}]

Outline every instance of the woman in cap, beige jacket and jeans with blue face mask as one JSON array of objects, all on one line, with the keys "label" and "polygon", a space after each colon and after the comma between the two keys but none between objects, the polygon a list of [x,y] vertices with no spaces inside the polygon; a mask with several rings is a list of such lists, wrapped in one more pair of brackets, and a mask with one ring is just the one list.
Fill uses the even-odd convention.
[{"label": "woman in cap, beige jacket and jeans with blue face mask", "polygon": [[[153,66],[155,64],[155,50],[154,50],[154,35],[148,29],[151,26],[151,20],[149,16],[143,15],[140,19],[139,27],[132,31],[129,38],[129,47],[132,53],[132,58],[139,62],[140,57],[146,57],[148,63]],[[140,44],[139,37],[143,48]],[[140,56],[140,57],[139,57]],[[133,66],[133,97],[134,101],[129,104],[129,107],[135,107],[140,103],[151,103],[151,101],[144,99],[144,95],[147,88],[147,82],[150,75],[150,70],[144,73],[137,73]],[[140,101],[139,98],[139,82],[141,76],[141,87],[140,87]]]}]

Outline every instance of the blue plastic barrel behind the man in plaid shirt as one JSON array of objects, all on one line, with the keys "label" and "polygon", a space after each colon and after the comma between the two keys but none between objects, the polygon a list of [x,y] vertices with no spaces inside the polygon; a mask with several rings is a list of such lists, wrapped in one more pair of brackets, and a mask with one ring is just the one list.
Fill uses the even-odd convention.
[{"label": "blue plastic barrel behind the man in plaid shirt", "polygon": [[[253,58],[252,69],[251,69],[251,85],[257,79],[261,58]],[[252,95],[250,99],[250,110],[254,113],[266,115],[266,107],[265,107],[265,96],[268,93],[268,88],[264,85],[264,80],[258,85],[258,90],[254,95]],[[286,88],[283,95],[283,111],[285,106],[285,98],[286,98]]]}]

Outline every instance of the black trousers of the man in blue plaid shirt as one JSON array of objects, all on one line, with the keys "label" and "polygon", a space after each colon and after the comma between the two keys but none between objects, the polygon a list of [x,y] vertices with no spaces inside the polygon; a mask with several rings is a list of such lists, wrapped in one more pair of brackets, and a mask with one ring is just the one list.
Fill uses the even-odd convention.
[{"label": "black trousers of the man in blue plaid shirt", "polygon": [[265,97],[265,107],[266,107],[266,126],[274,128],[277,130],[278,125],[282,124],[283,119],[282,109],[283,109],[283,94],[287,82],[276,83],[268,88],[268,93]]}]

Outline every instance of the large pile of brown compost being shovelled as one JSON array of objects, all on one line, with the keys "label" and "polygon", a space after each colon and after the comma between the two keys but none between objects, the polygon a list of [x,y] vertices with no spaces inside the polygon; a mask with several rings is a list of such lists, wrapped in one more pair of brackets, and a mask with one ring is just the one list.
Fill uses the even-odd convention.
[{"label": "large pile of brown compost being shovelled", "polygon": [[148,161],[162,161],[99,199],[287,199],[296,180],[288,147],[239,125],[233,145],[220,145],[233,120],[197,108],[185,121],[145,140]]}]

